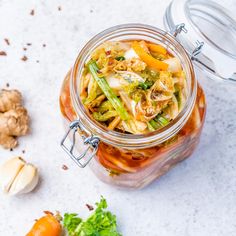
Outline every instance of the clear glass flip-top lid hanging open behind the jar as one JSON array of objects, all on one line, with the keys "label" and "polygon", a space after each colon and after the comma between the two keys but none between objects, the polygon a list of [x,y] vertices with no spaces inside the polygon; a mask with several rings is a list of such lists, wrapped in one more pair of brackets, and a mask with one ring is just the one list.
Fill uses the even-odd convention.
[{"label": "clear glass flip-top lid hanging open behind the jar", "polygon": [[164,24],[208,77],[236,84],[236,21],[227,9],[213,1],[173,0]]}]

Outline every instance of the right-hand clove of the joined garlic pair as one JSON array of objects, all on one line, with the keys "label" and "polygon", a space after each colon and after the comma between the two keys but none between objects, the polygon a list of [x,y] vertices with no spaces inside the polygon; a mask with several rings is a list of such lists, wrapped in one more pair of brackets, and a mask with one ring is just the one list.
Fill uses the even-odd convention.
[{"label": "right-hand clove of the joined garlic pair", "polygon": [[26,164],[18,173],[10,190],[10,195],[31,192],[38,184],[38,170],[32,164]]}]

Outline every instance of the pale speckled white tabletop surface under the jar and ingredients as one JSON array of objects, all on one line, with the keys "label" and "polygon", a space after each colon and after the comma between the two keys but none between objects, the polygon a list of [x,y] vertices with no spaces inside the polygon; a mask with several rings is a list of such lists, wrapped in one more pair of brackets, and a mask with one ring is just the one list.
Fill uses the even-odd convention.
[{"label": "pale speckled white tabletop surface under the jar and ingredients", "polygon": [[[88,168],[78,169],[59,146],[64,134],[59,90],[84,43],[120,23],[163,27],[169,1],[121,2],[0,0],[0,50],[8,54],[0,57],[0,87],[8,82],[20,89],[32,117],[31,134],[21,138],[13,152],[0,149],[0,163],[22,155],[39,167],[41,175],[31,194],[0,194],[1,236],[25,235],[43,210],[85,216],[84,204],[94,203],[100,195],[116,213],[124,236],[236,235],[236,87],[200,78],[208,111],[197,151],[143,190],[117,190],[101,183]],[[9,38],[10,46],[4,38]],[[32,46],[24,52],[26,43]],[[20,60],[23,55],[28,61]],[[69,170],[62,170],[63,164]]]}]

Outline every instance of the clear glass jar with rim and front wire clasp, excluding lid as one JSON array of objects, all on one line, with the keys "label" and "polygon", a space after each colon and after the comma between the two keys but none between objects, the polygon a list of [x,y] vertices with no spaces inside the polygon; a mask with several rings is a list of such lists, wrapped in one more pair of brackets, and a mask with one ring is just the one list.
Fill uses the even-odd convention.
[{"label": "clear glass jar with rim and front wire clasp, excluding lid", "polygon": [[[161,44],[180,59],[186,74],[188,98],[180,114],[164,128],[144,135],[118,133],[93,121],[83,107],[78,93],[83,66],[98,45],[112,40],[146,40]],[[204,92],[197,83],[188,53],[173,35],[141,24],[109,28],[85,45],[65,77],[60,107],[67,128],[72,122],[62,141],[62,147],[71,158],[80,167],[89,162],[100,180],[128,188],[150,184],[189,157],[199,142],[206,112]],[[69,147],[68,136],[72,143]]]}]

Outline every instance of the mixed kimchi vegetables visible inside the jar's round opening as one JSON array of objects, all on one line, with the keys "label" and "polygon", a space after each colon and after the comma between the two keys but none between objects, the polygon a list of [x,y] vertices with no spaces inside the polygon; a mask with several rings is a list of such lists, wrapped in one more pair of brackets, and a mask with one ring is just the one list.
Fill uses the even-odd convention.
[{"label": "mixed kimchi vegetables visible inside the jar's round opening", "polygon": [[81,100],[95,121],[129,134],[166,126],[187,97],[180,60],[146,41],[101,44],[84,65],[80,87]]}]

